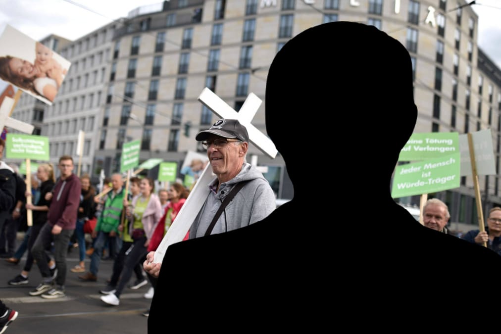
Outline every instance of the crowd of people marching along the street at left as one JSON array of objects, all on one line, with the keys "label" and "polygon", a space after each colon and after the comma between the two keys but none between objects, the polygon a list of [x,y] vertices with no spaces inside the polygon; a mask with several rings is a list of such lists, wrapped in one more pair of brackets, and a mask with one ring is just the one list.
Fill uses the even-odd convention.
[{"label": "crowd of people marching along the street at left", "polygon": [[[3,147],[0,141],[0,149]],[[70,156],[59,159],[57,180],[52,164],[38,165],[31,174],[30,188],[16,166],[2,162],[0,167],[13,176],[2,195],[7,191],[14,195],[14,201],[6,202],[10,208],[0,210],[8,211],[0,217],[0,256],[15,265],[24,260],[21,272],[8,281],[9,285],[28,284],[36,264],[42,281],[29,294],[46,299],[64,297],[69,272],[81,273],[78,277],[82,281],[95,282],[101,260],[108,259],[113,260],[113,272],[100,289],[104,303],[119,305],[124,287],[138,289],[148,282],[151,286],[144,297],[153,297],[156,278],[144,271],[142,263],[174,222],[189,194],[187,187],[176,182],[155,192],[152,178],[132,176],[127,180],[115,173],[97,193],[89,175],[73,174]],[[7,182],[0,181],[0,188],[5,188]],[[31,224],[27,222],[27,210],[32,213]],[[23,230],[24,239],[17,244],[17,233]],[[13,238],[8,237],[11,234]],[[68,270],[66,257],[74,249],[78,249],[79,263]],[[18,313],[1,305],[6,311],[0,314],[5,319],[0,320],[6,328]],[[148,311],[143,315],[148,316]]]}]

